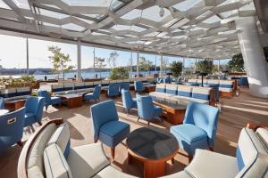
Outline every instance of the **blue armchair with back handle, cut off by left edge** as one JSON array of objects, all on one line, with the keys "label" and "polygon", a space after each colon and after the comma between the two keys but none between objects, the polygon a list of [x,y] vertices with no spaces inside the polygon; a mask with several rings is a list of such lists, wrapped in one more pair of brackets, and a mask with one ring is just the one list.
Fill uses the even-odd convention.
[{"label": "blue armchair with back handle, cut off by left edge", "polygon": [[25,108],[15,110],[0,117],[0,152],[13,146],[22,146]]}]

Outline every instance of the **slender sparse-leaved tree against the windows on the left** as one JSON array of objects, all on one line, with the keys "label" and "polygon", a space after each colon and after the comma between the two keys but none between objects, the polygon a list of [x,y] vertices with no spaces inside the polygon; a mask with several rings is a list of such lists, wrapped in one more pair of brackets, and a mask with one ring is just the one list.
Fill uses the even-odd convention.
[{"label": "slender sparse-leaved tree against the windows on the left", "polygon": [[48,51],[53,54],[52,56],[49,56],[49,59],[53,63],[54,72],[56,72],[59,76],[59,73],[62,71],[64,80],[65,72],[73,69],[73,66],[68,65],[68,63],[71,61],[70,55],[61,53],[61,48],[54,45],[48,46]]}]

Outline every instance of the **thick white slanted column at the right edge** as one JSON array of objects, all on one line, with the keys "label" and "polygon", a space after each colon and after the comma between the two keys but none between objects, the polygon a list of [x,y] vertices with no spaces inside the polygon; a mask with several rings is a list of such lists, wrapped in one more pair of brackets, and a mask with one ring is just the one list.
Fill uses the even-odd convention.
[{"label": "thick white slanted column at the right edge", "polygon": [[268,98],[268,67],[255,23],[255,17],[239,18],[236,20],[236,27],[239,29],[239,44],[250,93],[257,97]]}]

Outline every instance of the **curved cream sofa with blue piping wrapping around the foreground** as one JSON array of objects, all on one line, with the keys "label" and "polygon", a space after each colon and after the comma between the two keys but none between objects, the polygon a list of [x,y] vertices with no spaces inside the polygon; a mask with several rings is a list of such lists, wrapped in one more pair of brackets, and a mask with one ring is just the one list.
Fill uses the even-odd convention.
[{"label": "curved cream sofa with blue piping wrapping around the foreground", "polygon": [[[52,135],[58,133],[57,128],[63,127],[58,126],[61,123],[62,120],[50,121],[29,138],[21,151],[18,164],[19,178],[135,177],[113,168],[105,156],[101,143],[70,148],[66,158],[65,151],[62,151],[63,142],[58,142],[56,139],[55,143],[51,143],[51,140],[54,140],[51,139],[54,137]],[[66,129],[62,136],[64,142],[70,141]],[[65,150],[66,148],[67,146]],[[244,128],[239,137],[238,158],[208,150],[197,150],[194,159],[183,171],[164,178],[267,177],[267,150],[267,130],[259,128],[255,133],[253,130]]]}]

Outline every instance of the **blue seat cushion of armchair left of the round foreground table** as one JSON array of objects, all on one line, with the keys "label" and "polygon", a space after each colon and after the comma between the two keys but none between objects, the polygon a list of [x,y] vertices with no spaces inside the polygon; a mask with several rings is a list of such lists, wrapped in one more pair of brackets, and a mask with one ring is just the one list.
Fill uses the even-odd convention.
[{"label": "blue seat cushion of armchair left of the round foreground table", "polygon": [[110,121],[100,127],[100,132],[114,137],[116,134],[119,134],[122,129],[127,127],[130,127],[127,123],[123,123],[121,121]]}]

